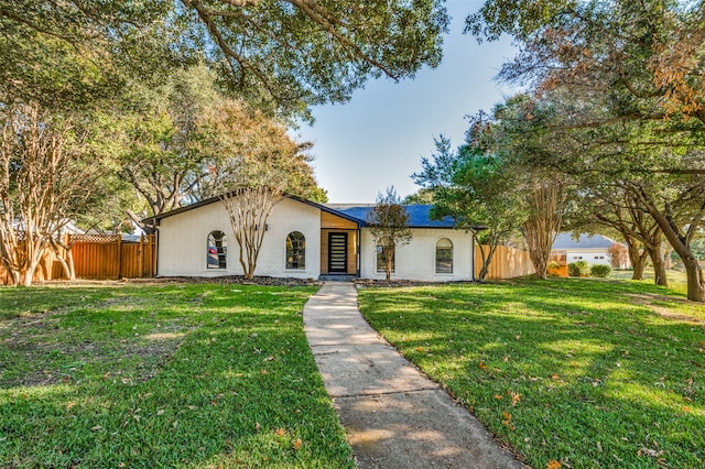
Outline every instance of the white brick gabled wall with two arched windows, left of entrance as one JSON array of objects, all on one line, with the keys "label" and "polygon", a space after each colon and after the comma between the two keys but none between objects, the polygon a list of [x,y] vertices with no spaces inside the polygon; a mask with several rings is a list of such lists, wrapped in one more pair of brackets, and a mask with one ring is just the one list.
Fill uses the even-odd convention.
[{"label": "white brick gabled wall with two arched windows, left of entrance", "polygon": [[[207,242],[212,231],[227,239],[226,269],[207,268]],[[286,236],[301,231],[306,238],[306,269],[286,270]],[[158,241],[159,276],[242,275],[238,243],[230,218],[220,201],[161,220]],[[284,198],[268,220],[256,275],[317,279],[321,274],[321,209]]]}]

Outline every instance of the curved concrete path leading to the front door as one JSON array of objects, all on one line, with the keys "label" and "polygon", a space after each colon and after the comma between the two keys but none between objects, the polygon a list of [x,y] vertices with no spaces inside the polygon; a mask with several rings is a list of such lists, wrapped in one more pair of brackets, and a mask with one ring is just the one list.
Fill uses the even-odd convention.
[{"label": "curved concrete path leading to the front door", "polygon": [[304,326],[360,468],[522,467],[379,337],[351,283],[324,284],[304,307]]}]

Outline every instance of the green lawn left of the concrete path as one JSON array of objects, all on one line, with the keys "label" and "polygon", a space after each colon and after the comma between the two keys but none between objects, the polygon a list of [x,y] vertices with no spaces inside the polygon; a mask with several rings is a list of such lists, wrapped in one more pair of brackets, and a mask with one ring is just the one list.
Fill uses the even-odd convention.
[{"label": "green lawn left of the concrete path", "polygon": [[0,467],[355,467],[311,287],[0,288]]}]

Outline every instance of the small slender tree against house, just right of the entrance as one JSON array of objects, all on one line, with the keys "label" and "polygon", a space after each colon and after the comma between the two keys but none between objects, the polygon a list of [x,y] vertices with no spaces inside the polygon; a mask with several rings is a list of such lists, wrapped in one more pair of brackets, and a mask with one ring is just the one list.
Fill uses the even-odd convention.
[{"label": "small slender tree against house, just right of the entrance", "polygon": [[367,222],[376,246],[382,249],[384,275],[389,283],[394,268],[397,247],[409,244],[413,237],[409,228],[409,214],[401,205],[401,198],[393,186],[387,188],[387,194],[377,195],[377,204],[368,212]]}]

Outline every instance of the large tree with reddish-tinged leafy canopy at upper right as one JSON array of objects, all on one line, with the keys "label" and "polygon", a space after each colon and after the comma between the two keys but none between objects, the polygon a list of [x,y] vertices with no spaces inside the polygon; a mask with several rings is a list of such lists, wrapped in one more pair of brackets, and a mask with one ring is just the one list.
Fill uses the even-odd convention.
[{"label": "large tree with reddish-tinged leafy canopy at upper right", "polygon": [[520,47],[499,74],[527,87],[502,118],[512,151],[573,178],[584,203],[623,194],[654,222],[642,242],[658,249],[662,232],[699,302],[691,244],[705,216],[704,14],[702,1],[499,0],[466,20],[478,40],[509,34]]}]

